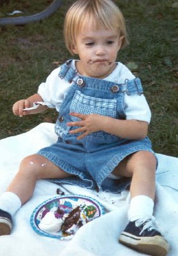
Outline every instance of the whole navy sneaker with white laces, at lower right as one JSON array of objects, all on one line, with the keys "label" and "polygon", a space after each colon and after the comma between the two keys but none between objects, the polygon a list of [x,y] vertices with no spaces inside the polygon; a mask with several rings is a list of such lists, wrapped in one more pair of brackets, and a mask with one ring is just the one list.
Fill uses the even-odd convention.
[{"label": "whole navy sneaker with white laces, at lower right", "polygon": [[119,242],[152,256],[165,256],[168,252],[168,243],[158,231],[154,218],[147,220],[130,221],[119,237]]}]

